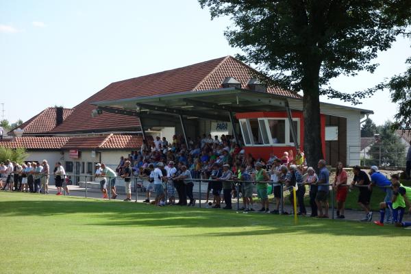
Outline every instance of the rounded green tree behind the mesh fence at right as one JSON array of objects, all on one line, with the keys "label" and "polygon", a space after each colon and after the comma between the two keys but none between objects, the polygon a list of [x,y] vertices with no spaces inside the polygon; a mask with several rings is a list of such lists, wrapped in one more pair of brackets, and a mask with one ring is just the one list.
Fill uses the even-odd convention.
[{"label": "rounded green tree behind the mesh fence at right", "polygon": [[401,137],[395,133],[393,123],[386,122],[378,127],[377,133],[379,140],[371,145],[368,152],[371,159],[374,160],[372,164],[389,163],[390,166],[405,166],[406,145],[401,142]]}]

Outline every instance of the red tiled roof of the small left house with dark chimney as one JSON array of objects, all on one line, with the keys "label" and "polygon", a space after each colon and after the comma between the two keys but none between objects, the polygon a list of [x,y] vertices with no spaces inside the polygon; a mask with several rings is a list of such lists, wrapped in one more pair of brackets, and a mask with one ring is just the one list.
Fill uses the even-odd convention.
[{"label": "red tiled roof of the small left house with dark chimney", "polygon": [[[71,114],[71,112],[73,112],[71,108],[63,108],[63,121]],[[46,108],[18,127],[24,129],[23,134],[47,133],[55,127],[55,115],[55,108]],[[10,133],[12,133],[14,129],[10,130]]]}]

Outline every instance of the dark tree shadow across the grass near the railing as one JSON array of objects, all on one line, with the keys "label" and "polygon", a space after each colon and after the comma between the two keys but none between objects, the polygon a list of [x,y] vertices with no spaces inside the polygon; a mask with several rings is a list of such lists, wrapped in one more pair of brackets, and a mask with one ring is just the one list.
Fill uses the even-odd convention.
[{"label": "dark tree shadow across the grass near the railing", "polygon": [[210,237],[266,234],[410,236],[410,231],[392,226],[377,227],[370,223],[318,220],[308,217],[300,218],[299,224],[294,225],[291,216],[242,214],[232,210],[209,210],[179,206],[156,208],[142,203],[85,201],[73,198],[58,201],[0,201],[0,216],[60,216],[68,214],[85,214],[84,218],[89,221],[86,225],[222,228],[221,232],[206,232],[195,235]]}]

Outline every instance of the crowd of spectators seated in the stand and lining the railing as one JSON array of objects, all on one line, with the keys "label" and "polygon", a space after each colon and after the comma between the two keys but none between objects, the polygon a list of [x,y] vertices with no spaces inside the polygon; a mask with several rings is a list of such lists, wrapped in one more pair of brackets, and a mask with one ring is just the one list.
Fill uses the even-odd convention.
[{"label": "crowd of spectators seated in the stand and lining the railing", "polygon": [[[208,180],[206,202],[212,208],[232,209],[232,198],[241,192],[241,210],[254,211],[253,197],[256,188],[257,197],[260,199],[259,212],[273,214],[289,214],[280,210],[284,203],[284,191],[295,189],[295,195],[288,195],[290,204],[298,204],[299,215],[306,215],[307,210],[304,197],[307,192],[310,197],[311,217],[329,218],[329,190],[336,190],[337,219],[345,219],[345,200],[349,189],[358,186],[360,194],[358,204],[366,212],[362,221],[371,221],[373,213],[370,208],[373,186],[379,187],[386,193],[384,202],[380,204],[382,219],[375,221],[377,225],[397,223],[404,226],[402,217],[406,206],[410,208],[411,188],[399,184],[399,179],[392,178],[390,182],[377,166],[372,166],[369,177],[359,166],[353,168],[354,178],[348,184],[347,171],[343,163],[338,162],[336,175],[329,178],[325,160],[319,160],[316,169],[307,166],[303,151],[297,149],[294,155],[292,150],[284,151],[281,157],[271,154],[269,159],[256,159],[251,153],[238,145],[232,136],[203,135],[197,140],[182,136],[173,136],[170,142],[166,138],[156,137],[152,142],[144,141],[140,149],[132,151],[127,158],[121,158],[115,171],[105,164],[96,164],[95,179],[101,184],[103,198],[108,199],[107,186],[110,185],[112,199],[116,193],[116,177],[125,181],[126,199],[131,201],[132,177],[145,178],[149,181],[146,187],[147,199],[145,203],[155,206],[178,205],[195,206],[196,200],[192,193],[194,182],[192,179]],[[317,172],[316,172],[317,171]],[[17,164],[10,161],[0,164],[1,189],[21,190],[47,193],[47,185],[51,171],[46,160],[42,164],[25,163]],[[52,173],[58,195],[66,187],[64,179],[66,173],[61,163],[55,164]],[[238,186],[238,188],[236,187]],[[69,192],[69,189],[66,188]],[[177,192],[177,195],[176,195]],[[212,199],[210,199],[210,192]],[[269,209],[269,195],[273,194],[275,208]],[[154,196],[151,201],[151,195]],[[178,202],[176,203],[176,197]],[[296,201],[294,201],[296,197]],[[166,201],[167,198],[167,201]],[[187,200],[189,202],[187,203]],[[411,212],[411,209],[410,209]]]}]

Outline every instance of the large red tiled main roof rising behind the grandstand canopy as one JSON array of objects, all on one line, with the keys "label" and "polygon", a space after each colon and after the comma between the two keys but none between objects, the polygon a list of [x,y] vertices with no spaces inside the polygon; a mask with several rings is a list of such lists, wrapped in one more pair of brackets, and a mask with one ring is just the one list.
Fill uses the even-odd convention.
[{"label": "large red tiled main roof rising behind the grandstand canopy", "polygon": [[[246,88],[245,85],[251,78],[251,70],[246,64],[227,56],[179,69],[114,82],[75,106],[73,113],[62,125],[55,127],[51,132],[136,131],[140,125],[136,117],[103,112],[92,118],[91,112],[95,106],[90,103],[221,88],[221,82],[229,76],[238,79],[242,82],[243,88]],[[299,95],[279,88],[269,88],[268,91],[279,95],[299,97]]]}]

